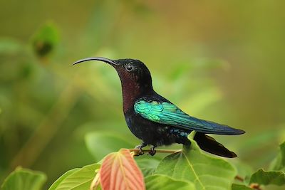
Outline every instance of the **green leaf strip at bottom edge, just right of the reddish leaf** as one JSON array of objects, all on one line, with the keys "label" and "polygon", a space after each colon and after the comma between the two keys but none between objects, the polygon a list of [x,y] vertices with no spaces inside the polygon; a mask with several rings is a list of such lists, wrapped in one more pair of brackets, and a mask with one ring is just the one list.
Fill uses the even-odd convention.
[{"label": "green leaf strip at bottom edge, just right of the reddish leaf", "polygon": [[147,176],[145,186],[147,190],[195,190],[195,185],[189,181],[179,181],[159,174]]}]

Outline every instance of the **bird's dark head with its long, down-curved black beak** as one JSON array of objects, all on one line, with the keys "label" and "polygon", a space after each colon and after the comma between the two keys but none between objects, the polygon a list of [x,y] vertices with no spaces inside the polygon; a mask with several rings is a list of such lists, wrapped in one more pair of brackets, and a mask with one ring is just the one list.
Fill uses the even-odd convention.
[{"label": "bird's dark head with its long, down-curved black beak", "polygon": [[111,60],[108,58],[94,57],[78,60],[76,63],[73,63],[73,65],[88,60],[100,60],[112,65],[120,77],[123,88],[125,85],[136,85],[136,87],[141,90],[152,90],[152,78],[150,71],[140,60],[129,58]]}]

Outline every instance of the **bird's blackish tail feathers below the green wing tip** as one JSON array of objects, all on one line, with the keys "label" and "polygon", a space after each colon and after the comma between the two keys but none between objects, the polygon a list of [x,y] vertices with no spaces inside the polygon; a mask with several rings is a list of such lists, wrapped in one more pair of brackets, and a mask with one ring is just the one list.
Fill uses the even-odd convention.
[{"label": "bird's blackish tail feathers below the green wing tip", "polygon": [[204,133],[197,132],[194,139],[199,147],[206,152],[227,158],[237,157],[237,154],[229,151],[229,149],[217,142],[213,137],[209,137]]}]

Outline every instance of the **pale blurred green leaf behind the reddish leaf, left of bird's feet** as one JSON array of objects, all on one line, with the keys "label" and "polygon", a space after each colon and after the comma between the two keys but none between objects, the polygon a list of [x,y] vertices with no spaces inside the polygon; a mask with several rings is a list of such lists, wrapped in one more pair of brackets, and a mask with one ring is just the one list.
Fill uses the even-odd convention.
[{"label": "pale blurred green leaf behind the reddish leaf, left of bird's feet", "polygon": [[118,152],[121,148],[133,148],[122,137],[107,132],[90,132],[85,137],[86,146],[96,160],[103,159],[111,152]]}]

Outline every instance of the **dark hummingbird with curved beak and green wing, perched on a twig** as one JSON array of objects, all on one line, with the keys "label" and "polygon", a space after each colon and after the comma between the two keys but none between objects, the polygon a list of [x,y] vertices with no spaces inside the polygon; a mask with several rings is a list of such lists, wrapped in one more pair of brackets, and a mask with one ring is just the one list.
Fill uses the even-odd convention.
[{"label": "dark hummingbird with curved beak and green wing, perched on a twig", "polygon": [[151,147],[149,154],[154,155],[157,146],[175,142],[189,144],[187,135],[195,130],[197,133],[194,139],[204,151],[221,157],[237,157],[237,154],[206,134],[237,135],[243,134],[244,131],[192,117],[155,93],[150,71],[140,60],[94,57],[78,60],[73,65],[88,60],[103,61],[117,71],[123,91],[125,121],[130,131],[142,140],[136,147],[140,154],[143,154],[142,147],[147,145]]}]

